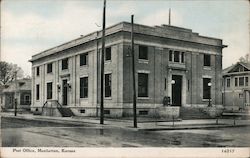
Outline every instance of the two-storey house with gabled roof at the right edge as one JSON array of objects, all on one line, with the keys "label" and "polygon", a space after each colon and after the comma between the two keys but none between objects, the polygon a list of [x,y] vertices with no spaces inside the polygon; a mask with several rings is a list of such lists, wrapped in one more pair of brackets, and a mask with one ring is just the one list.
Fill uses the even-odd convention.
[{"label": "two-storey house with gabled roof at the right edge", "polygon": [[228,110],[250,107],[250,64],[238,62],[223,70],[223,104]]}]

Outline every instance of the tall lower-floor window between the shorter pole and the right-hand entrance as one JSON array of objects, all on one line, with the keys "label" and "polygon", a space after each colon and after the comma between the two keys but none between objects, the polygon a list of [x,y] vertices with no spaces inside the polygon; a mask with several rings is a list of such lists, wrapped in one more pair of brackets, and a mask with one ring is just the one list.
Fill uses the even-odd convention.
[{"label": "tall lower-floor window between the shorter pole and the right-hand entrance", "polygon": [[138,97],[148,97],[148,74],[138,73]]}]

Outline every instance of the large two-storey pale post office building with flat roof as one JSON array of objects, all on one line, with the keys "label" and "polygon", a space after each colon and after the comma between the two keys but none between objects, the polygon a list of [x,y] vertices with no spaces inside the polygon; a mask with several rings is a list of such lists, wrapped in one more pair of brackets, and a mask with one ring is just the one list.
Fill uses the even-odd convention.
[{"label": "large two-storey pale post office building with flat roof", "polygon": [[[156,113],[163,98],[176,107],[222,105],[221,39],[175,26],[135,24],[139,115]],[[32,56],[32,110],[57,100],[75,115],[99,115],[101,32]],[[104,113],[132,114],[131,24],[106,29]],[[211,83],[209,87],[208,83]]]}]

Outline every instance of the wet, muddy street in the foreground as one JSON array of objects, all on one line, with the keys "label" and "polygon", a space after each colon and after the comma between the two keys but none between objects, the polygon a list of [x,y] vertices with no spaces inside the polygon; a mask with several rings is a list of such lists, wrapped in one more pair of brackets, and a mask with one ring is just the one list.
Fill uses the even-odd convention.
[{"label": "wet, muddy street in the foreground", "polygon": [[1,119],[3,147],[248,147],[250,127],[133,131]]}]

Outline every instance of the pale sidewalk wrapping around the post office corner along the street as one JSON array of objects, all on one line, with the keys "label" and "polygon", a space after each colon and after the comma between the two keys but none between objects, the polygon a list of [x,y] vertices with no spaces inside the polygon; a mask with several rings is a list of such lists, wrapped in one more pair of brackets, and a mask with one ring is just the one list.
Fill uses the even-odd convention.
[{"label": "pale sidewalk wrapping around the post office corner along the street", "polygon": [[100,124],[99,118],[95,117],[50,117],[39,116],[32,114],[17,114],[1,113],[1,117],[15,118],[29,121],[43,121],[52,122],[62,125],[75,125],[75,126],[95,126],[101,128],[123,128],[135,131],[156,131],[156,130],[182,130],[182,129],[208,129],[208,128],[227,128],[227,127],[242,127],[250,126],[250,120],[234,120],[233,119],[219,119],[216,124],[216,119],[200,119],[200,120],[179,120],[172,121],[159,121],[156,120],[139,122],[138,128],[133,127],[133,119],[111,119],[105,118],[104,125]]}]

